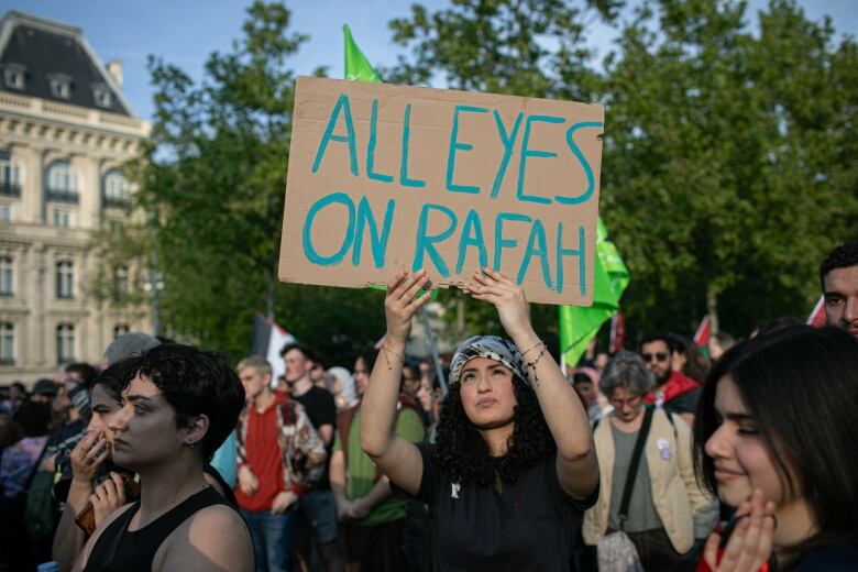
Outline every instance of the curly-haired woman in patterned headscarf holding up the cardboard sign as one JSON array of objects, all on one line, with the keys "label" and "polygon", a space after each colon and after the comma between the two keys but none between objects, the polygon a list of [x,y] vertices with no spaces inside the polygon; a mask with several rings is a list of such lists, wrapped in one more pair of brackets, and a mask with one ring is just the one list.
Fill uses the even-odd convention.
[{"label": "curly-haired woman in patterned headscarf holding up the cardboard sign", "polygon": [[586,411],[534,331],[519,286],[488,268],[465,284],[497,308],[509,339],[459,345],[437,444],[393,435],[405,343],[429,286],[425,271],[387,284],[387,337],[363,399],[361,444],[397,494],[431,507],[436,570],[569,570],[598,464]]}]

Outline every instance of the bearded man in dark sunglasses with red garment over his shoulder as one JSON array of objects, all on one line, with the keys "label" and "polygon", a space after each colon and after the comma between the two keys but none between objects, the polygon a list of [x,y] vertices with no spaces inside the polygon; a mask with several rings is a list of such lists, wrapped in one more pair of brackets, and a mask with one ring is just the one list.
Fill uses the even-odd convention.
[{"label": "bearded man in dark sunglasses with red garment over his shoulder", "polygon": [[663,407],[668,414],[679,415],[691,426],[700,398],[700,384],[673,371],[673,340],[668,333],[649,333],[644,337],[640,355],[647,370],[656,377],[656,387],[647,394],[645,402]]}]

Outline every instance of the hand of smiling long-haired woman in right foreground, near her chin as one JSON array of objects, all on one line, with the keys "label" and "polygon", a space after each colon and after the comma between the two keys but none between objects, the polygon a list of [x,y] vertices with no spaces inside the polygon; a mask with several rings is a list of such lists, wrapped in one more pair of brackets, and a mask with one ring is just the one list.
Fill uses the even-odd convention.
[{"label": "hand of smiling long-haired woman in right foreground, near her chin", "polygon": [[721,562],[721,534],[715,531],[706,540],[703,558],[713,572],[757,572],[771,556],[774,503],[763,503],[762,491],[756,488],[750,502],[746,501],[739,506],[737,515],[744,516],[733,529]]}]

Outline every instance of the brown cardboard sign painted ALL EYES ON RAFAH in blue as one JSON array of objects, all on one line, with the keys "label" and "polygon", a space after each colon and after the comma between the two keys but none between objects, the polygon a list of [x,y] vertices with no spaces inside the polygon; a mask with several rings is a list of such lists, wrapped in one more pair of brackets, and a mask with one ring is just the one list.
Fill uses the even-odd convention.
[{"label": "brown cardboard sign painted ALL EYES ON RAFAH in blue", "polygon": [[301,77],[279,279],[492,266],[530,301],[587,306],[603,125],[595,105]]}]

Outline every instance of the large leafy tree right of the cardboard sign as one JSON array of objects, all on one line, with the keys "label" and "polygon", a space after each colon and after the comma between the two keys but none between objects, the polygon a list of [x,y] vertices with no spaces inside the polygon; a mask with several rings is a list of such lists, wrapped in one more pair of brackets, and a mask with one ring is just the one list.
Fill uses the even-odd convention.
[{"label": "large leafy tree right of the cardboard sign", "polygon": [[758,37],[745,15],[646,2],[607,62],[603,212],[632,327],[802,316],[824,253],[855,234],[855,43],[791,1],[759,14]]}]

